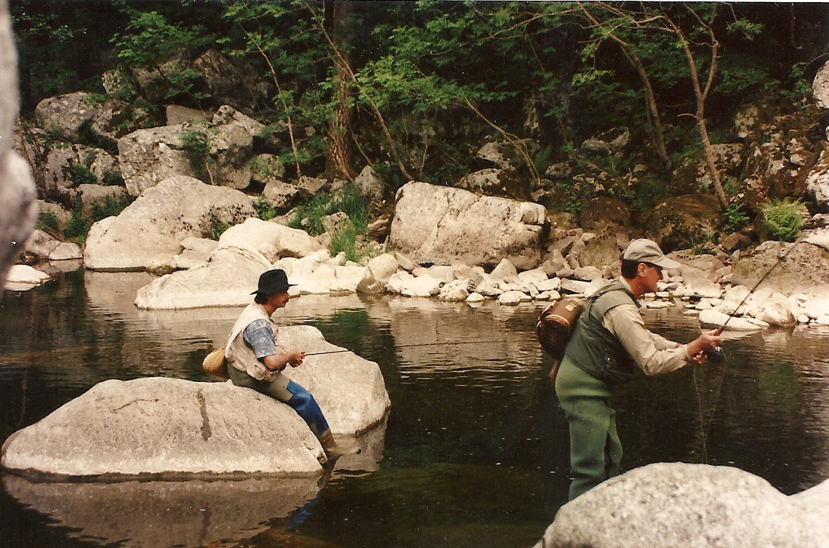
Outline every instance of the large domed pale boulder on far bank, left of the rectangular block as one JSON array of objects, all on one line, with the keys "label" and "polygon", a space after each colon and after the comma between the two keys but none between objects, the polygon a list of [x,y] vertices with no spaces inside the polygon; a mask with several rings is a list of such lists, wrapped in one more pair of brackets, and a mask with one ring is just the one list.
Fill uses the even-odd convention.
[{"label": "large domed pale boulder on far bank, left of the rectangular block", "polygon": [[241,223],[255,217],[250,198],[187,176],[148,188],[117,217],[92,225],[86,237],[85,266],[91,270],[140,271],[159,257],[171,260],[186,237],[211,232],[211,219]]}]

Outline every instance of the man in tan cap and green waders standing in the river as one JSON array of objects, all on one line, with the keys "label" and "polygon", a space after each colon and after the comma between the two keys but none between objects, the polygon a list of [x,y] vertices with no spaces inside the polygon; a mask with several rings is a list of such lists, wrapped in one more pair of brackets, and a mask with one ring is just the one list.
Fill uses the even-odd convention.
[{"label": "man in tan cap and green waders standing in the river", "polygon": [[722,338],[708,331],[686,345],[647,330],[637,299],[657,291],[662,268],[679,263],[656,242],[633,240],[622,256],[622,277],[591,296],[576,322],[555,377],[555,394],[570,425],[570,500],[618,474],[622,444],[616,432],[615,389],[634,368],[662,374],[706,360]]}]

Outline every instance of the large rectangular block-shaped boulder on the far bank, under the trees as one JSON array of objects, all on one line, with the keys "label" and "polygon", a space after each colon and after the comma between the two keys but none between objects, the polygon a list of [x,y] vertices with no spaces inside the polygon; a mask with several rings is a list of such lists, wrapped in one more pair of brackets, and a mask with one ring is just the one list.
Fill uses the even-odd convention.
[{"label": "large rectangular block-shaped boulder on the far bank, under the trees", "polygon": [[507,258],[529,270],[541,263],[545,213],[537,203],[412,182],[397,191],[386,243],[417,262],[494,267]]}]

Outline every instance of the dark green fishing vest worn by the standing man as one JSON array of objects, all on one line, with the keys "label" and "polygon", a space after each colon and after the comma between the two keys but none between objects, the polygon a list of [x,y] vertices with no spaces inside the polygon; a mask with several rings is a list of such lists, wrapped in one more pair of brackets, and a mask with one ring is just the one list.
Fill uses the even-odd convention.
[{"label": "dark green fishing vest worn by the standing man", "polygon": [[613,280],[599,289],[584,304],[565,356],[585,373],[608,384],[624,384],[632,379],[636,363],[616,336],[602,325],[605,312],[631,303],[639,306],[621,281]]}]

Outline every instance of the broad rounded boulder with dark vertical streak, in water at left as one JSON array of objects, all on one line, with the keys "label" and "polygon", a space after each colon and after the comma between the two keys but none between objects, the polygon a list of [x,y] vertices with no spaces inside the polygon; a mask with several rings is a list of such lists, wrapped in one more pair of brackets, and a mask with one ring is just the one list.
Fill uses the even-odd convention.
[{"label": "broad rounded boulder with dark vertical streak, in water at left", "polygon": [[2,448],[2,467],[53,478],[310,476],[322,448],[293,409],[230,383],[107,380]]}]

